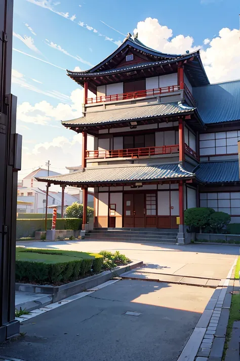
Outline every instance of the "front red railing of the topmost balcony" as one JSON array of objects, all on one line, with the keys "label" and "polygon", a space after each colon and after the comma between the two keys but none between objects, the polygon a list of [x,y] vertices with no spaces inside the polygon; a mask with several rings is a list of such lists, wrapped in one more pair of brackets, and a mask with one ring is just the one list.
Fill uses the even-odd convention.
[{"label": "front red railing of the topmost balcony", "polygon": [[135,98],[144,98],[149,96],[156,96],[166,93],[176,92],[180,89],[179,85],[164,86],[162,88],[146,89],[137,92],[129,92],[122,94],[103,95],[95,98],[87,98],[86,104],[103,103],[103,102],[116,102],[118,100],[128,100]]}]

